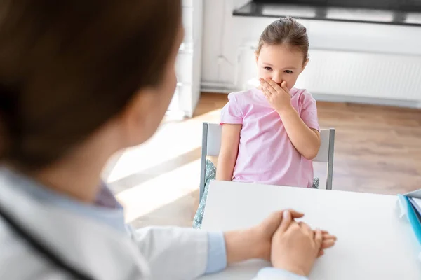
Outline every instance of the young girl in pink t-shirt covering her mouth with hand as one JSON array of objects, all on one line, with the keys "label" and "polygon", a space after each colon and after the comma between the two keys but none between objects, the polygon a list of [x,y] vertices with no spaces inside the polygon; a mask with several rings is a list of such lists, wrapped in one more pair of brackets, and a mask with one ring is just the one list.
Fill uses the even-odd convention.
[{"label": "young girl in pink t-shirt covering her mouth with hand", "polygon": [[[217,180],[317,188],[316,102],[307,90],[293,87],[309,61],[308,50],[306,29],[293,18],[276,20],[263,31],[255,53],[260,87],[229,94],[221,112]],[[209,161],[207,169],[214,170]],[[201,226],[210,179],[194,228]]]}]

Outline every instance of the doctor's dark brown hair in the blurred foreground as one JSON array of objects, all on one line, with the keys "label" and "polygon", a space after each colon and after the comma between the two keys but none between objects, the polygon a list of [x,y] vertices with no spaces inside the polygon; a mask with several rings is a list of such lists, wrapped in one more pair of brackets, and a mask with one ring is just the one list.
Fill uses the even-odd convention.
[{"label": "doctor's dark brown hair in the blurred foreground", "polygon": [[180,0],[0,1],[0,160],[46,167],[159,85]]}]

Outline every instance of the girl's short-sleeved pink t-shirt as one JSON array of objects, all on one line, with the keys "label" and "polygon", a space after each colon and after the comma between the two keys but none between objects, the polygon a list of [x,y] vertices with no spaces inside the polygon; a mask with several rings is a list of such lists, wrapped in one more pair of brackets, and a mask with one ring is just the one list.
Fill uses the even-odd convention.
[{"label": "girl's short-sleeved pink t-shirt", "polygon": [[[291,104],[304,123],[320,131],[316,101],[307,90],[292,88]],[[310,188],[312,160],[293,146],[279,114],[258,89],[232,92],[221,124],[241,124],[239,154],[232,181]]]}]

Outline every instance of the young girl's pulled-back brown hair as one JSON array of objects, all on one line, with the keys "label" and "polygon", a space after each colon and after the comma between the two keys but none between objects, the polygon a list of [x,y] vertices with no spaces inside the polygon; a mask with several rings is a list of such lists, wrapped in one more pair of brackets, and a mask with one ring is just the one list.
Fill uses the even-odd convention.
[{"label": "young girl's pulled-back brown hair", "polygon": [[263,45],[286,44],[302,52],[304,60],[309,57],[309,37],[307,29],[294,18],[280,18],[268,25],[260,35],[257,54]]}]

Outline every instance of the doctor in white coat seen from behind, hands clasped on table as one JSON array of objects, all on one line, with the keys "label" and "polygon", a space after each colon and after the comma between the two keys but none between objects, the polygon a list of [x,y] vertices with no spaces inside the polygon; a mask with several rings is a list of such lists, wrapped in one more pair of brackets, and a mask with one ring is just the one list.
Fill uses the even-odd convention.
[{"label": "doctor in white coat seen from behind, hands clasped on table", "polygon": [[293,210],[232,232],[125,225],[100,174],[159,127],[182,38],[180,0],[1,1],[1,279],[194,279],[250,258],[272,262],[258,279],[307,279],[335,244]]}]

